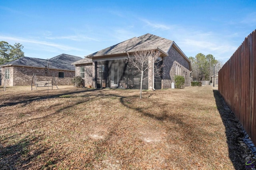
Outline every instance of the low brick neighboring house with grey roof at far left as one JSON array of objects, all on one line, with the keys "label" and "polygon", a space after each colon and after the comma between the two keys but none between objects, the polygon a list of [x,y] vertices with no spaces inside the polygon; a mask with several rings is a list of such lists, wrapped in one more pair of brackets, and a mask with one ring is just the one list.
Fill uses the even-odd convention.
[{"label": "low brick neighboring house with grey roof at far left", "polygon": [[[75,67],[71,63],[82,59],[81,57],[61,54],[51,59],[36,59],[22,57],[0,65],[6,86],[29,86],[33,74],[41,81],[52,80],[54,74],[57,85],[71,85],[75,76]],[[2,80],[2,86],[3,86]]]}]

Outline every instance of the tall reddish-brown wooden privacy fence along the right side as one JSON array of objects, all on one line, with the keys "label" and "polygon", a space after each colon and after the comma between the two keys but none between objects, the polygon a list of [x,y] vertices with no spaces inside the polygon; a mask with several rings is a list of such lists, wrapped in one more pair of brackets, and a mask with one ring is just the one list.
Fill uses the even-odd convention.
[{"label": "tall reddish-brown wooden privacy fence along the right side", "polygon": [[218,72],[219,92],[256,143],[256,30]]}]

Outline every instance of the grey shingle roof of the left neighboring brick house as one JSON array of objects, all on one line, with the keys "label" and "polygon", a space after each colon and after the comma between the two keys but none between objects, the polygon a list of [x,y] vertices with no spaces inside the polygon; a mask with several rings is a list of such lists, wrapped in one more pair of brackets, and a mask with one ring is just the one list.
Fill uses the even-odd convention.
[{"label": "grey shingle roof of the left neighboring brick house", "polygon": [[71,65],[71,63],[82,59],[81,57],[61,54],[56,57],[53,57],[49,60],[45,59],[37,59],[32,57],[22,57],[20,59],[10,61],[8,63],[2,64],[0,66],[6,65],[16,65],[16,66],[34,66],[34,67],[45,67],[60,69],[60,70],[76,70],[75,66]]}]

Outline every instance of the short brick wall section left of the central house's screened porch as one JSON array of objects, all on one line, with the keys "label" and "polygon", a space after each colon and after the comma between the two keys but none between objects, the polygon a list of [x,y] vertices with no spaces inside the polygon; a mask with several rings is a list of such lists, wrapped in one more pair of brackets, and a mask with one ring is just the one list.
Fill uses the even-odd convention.
[{"label": "short brick wall section left of the central house's screened porch", "polygon": [[76,76],[80,76],[80,67],[84,66],[84,85],[88,86],[92,84],[92,63],[76,65]]}]

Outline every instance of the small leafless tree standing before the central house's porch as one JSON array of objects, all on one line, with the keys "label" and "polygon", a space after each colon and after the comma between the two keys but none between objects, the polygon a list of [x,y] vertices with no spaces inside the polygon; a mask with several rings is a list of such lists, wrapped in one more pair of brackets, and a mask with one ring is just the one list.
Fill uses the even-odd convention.
[{"label": "small leafless tree standing before the central house's porch", "polygon": [[[127,61],[130,63],[131,67],[137,68],[140,73],[140,99],[142,98],[142,82],[144,79],[148,78],[148,74],[145,74],[148,68],[158,61],[162,53],[156,49],[145,49],[142,51],[132,51],[131,54],[127,52],[128,58]],[[158,64],[157,64],[158,65]],[[154,66],[154,72],[162,70],[162,66]],[[154,73],[152,73],[154,74]]]}]

